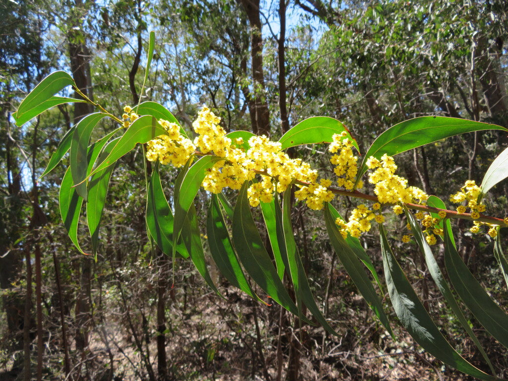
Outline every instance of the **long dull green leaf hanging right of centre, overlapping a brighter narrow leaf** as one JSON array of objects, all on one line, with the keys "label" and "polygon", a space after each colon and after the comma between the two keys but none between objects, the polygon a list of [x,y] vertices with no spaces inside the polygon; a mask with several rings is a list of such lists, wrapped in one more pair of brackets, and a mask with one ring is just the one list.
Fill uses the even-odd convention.
[{"label": "long dull green leaf hanging right of centre, overlapping a brighter narrow leaf", "polygon": [[360,291],[360,294],[362,294],[369,307],[377,316],[377,319],[379,319],[381,324],[385,326],[390,335],[394,337],[392,328],[390,327],[390,322],[388,321],[388,316],[383,309],[383,303],[379,299],[379,296],[376,294],[374,287],[372,286],[372,283],[365,273],[365,270],[358,260],[355,252],[346,243],[344,238],[342,238],[337,225],[335,225],[335,219],[332,217],[330,209],[330,203],[326,203],[326,229],[328,231],[328,236],[330,237],[332,246],[337,253],[337,257],[339,258],[340,262],[342,262],[344,269],[351,277],[351,280],[353,280],[353,283],[355,283],[356,287]]}]

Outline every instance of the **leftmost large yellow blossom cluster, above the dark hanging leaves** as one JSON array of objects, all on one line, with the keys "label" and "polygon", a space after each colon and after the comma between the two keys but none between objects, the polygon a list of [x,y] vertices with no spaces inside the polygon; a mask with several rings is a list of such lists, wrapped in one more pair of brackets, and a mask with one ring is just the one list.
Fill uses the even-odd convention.
[{"label": "leftmost large yellow blossom cluster, above the dark hanging leaves", "polygon": [[147,143],[146,158],[154,162],[159,160],[161,164],[173,164],[182,167],[196,149],[192,141],[180,135],[180,127],[176,123],[160,119],[159,124],[169,135],[161,135]]}]

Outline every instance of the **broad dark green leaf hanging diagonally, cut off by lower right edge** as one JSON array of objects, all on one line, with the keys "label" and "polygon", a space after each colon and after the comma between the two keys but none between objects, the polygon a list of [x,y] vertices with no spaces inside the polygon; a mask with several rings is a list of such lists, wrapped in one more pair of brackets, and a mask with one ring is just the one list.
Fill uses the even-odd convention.
[{"label": "broad dark green leaf hanging diagonally, cut off by lower right edge", "polygon": [[448,228],[445,226],[444,229],[444,264],[455,291],[492,337],[508,348],[508,315],[471,274],[457,249],[451,244]]}]

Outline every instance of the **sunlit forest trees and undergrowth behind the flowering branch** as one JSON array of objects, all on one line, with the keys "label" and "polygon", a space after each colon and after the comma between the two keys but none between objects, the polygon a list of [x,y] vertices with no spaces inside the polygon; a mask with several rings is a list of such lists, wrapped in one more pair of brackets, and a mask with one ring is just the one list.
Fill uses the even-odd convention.
[{"label": "sunlit forest trees and undergrowth behind the flowering branch", "polygon": [[[240,294],[212,262],[211,276],[228,301],[209,294],[190,262],[173,264],[150,249],[139,148],[122,157],[112,174],[98,262],[84,257],[56,212],[66,168],[59,164],[37,179],[60,139],[91,108],[60,105],[22,128],[11,115],[26,93],[58,69],[72,73],[81,91],[107,110],[120,114],[125,104],[138,104],[153,29],[155,55],[141,100],[167,106],[186,131],[202,104],[223,118],[227,131],[274,139],[306,117],[332,116],[350,129],[361,152],[389,126],[415,116],[506,127],[508,23],[502,2],[76,0],[8,1],[0,9],[2,377],[30,379],[26,369],[44,379],[462,377],[441,369],[400,328],[393,327],[397,341],[391,339],[337,263],[322,215],[299,203],[291,217],[303,266],[325,316],[343,336],[310,326],[299,332],[297,317]],[[114,128],[103,119],[92,141]],[[411,185],[447,200],[466,178],[480,183],[507,143],[502,132],[474,132],[403,153],[398,162]],[[293,152],[331,173],[324,149]],[[176,175],[171,168],[161,171],[166,195]],[[507,190],[506,182],[491,190],[490,214],[507,214]],[[198,196],[204,227],[209,196]],[[339,206],[343,214],[352,208],[347,200]],[[388,231],[387,240],[409,282],[452,345],[488,371],[444,308],[425,258],[415,246],[398,243],[405,223],[392,217],[388,226],[396,234],[391,238]],[[494,242],[468,228],[463,222],[455,227],[458,255],[494,299],[506,300]],[[85,228],[77,227],[75,236],[91,251]],[[381,271],[376,232],[362,244]],[[384,257],[389,259],[386,250]],[[439,251],[439,262],[449,258]],[[465,319],[478,327],[472,315]],[[507,377],[505,349],[484,331],[475,333],[498,375]]]}]

